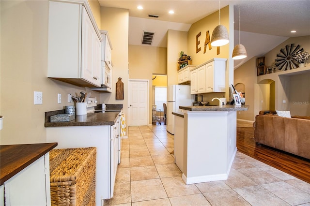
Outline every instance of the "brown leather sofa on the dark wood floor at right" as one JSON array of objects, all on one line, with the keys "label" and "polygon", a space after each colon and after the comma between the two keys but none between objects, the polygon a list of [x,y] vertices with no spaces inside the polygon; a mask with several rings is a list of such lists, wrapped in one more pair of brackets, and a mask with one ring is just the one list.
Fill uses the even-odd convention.
[{"label": "brown leather sofa on the dark wood floor at right", "polygon": [[310,117],[283,118],[276,114],[276,111],[260,111],[255,117],[256,144],[310,159]]}]

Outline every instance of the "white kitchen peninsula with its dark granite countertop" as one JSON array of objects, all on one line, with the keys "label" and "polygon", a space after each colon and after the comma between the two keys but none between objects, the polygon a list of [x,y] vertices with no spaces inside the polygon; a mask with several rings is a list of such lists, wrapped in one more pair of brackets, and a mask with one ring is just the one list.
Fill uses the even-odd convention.
[{"label": "white kitchen peninsula with its dark granite countertop", "polygon": [[175,163],[186,184],[228,178],[236,147],[236,111],[248,105],[180,106],[175,115]]}]

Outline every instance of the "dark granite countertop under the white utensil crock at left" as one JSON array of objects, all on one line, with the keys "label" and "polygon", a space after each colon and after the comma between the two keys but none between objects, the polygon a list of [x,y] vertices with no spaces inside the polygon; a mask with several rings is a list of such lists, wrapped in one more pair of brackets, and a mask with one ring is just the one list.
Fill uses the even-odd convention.
[{"label": "dark granite countertop under the white utensil crock at left", "polygon": [[57,110],[45,113],[45,127],[70,127],[70,126],[98,126],[114,125],[120,111],[106,111],[98,113],[88,113],[87,115],[76,115],[75,119],[68,122],[50,122],[50,116],[64,114],[65,110]]}]

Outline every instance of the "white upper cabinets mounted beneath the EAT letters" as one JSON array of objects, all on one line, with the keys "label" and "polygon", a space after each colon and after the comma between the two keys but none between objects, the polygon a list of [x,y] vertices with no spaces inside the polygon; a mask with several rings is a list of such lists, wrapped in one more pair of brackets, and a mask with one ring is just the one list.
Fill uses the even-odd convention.
[{"label": "white upper cabinets mounted beneath the EAT letters", "polygon": [[210,59],[191,69],[190,93],[225,92],[226,60]]}]

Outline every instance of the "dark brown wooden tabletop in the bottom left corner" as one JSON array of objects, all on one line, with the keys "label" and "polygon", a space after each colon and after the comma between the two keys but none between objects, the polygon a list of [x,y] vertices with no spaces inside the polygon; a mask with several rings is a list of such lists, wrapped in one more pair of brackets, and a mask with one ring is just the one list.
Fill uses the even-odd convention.
[{"label": "dark brown wooden tabletop in the bottom left corner", "polygon": [[0,145],[0,185],[57,145],[57,143]]}]

